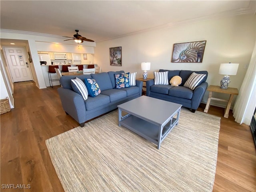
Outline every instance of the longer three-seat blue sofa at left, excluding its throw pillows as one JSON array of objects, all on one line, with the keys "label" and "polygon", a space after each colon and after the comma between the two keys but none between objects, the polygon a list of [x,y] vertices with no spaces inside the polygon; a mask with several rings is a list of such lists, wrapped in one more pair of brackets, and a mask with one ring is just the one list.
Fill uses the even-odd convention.
[{"label": "longer three-seat blue sofa at left, excluding its throw pillows", "polygon": [[[115,88],[116,81],[114,74],[120,73],[124,73],[124,71],[110,71],[80,76],[62,76],[60,78],[62,87],[58,88],[58,93],[66,114],[72,116],[83,127],[86,121],[116,109],[119,104],[141,96],[142,81],[136,80],[136,86],[129,88]],[[72,89],[71,79],[76,77],[82,81],[85,78],[96,80],[101,93],[96,97],[88,96],[88,99],[84,101],[82,96]]]}]

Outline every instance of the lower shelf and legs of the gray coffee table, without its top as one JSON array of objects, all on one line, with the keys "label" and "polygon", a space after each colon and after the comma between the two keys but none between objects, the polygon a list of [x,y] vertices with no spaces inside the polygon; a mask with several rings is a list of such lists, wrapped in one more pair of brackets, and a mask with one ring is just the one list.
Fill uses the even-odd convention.
[{"label": "lower shelf and legs of the gray coffee table, without its top", "polygon": [[[178,116],[179,112],[180,110],[177,111]],[[120,110],[119,113],[122,113],[122,110]],[[143,120],[132,114],[126,114],[125,116],[119,114],[119,126],[122,125],[154,144],[157,144],[158,149],[160,148],[161,142],[176,124],[178,124],[178,118],[171,118],[162,128],[162,125]]]}]

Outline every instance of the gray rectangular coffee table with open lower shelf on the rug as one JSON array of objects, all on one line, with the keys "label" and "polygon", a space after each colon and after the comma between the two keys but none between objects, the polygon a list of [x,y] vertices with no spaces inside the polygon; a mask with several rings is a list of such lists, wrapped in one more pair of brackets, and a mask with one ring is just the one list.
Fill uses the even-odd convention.
[{"label": "gray rectangular coffee table with open lower shelf on the rug", "polygon": [[[182,105],[141,96],[118,105],[119,126],[124,126],[157,144],[166,138],[175,125],[178,125]],[[122,111],[126,112],[125,115]]]}]

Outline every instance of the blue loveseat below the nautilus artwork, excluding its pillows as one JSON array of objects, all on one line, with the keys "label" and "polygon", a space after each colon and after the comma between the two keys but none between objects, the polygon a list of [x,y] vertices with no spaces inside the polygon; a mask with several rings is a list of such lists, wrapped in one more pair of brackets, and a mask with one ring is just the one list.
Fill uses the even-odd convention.
[{"label": "blue loveseat below the nautilus artwork, excluding its pillows", "polygon": [[[208,72],[207,71],[190,71],[190,70],[163,70],[159,72],[168,71],[168,81],[170,82],[173,76],[180,76],[182,83],[178,86],[169,85],[154,85],[154,79],[146,81],[146,95],[178,104],[182,104],[183,107],[190,108],[192,112],[195,112],[201,103],[208,83],[206,82]],[[184,87],[186,80],[190,75],[195,72],[198,74],[206,74],[202,83],[198,85],[194,90]]]}]

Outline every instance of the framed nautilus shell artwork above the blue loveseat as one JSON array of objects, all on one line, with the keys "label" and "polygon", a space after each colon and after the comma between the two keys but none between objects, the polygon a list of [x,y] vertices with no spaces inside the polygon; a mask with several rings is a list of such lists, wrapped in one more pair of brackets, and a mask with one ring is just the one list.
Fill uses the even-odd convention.
[{"label": "framed nautilus shell artwork above the blue loveseat", "polygon": [[174,44],[172,62],[202,63],[205,44],[206,41]]}]

